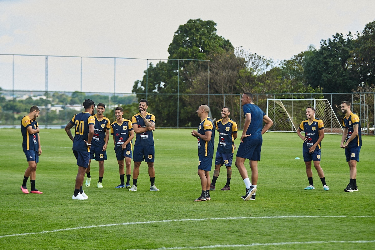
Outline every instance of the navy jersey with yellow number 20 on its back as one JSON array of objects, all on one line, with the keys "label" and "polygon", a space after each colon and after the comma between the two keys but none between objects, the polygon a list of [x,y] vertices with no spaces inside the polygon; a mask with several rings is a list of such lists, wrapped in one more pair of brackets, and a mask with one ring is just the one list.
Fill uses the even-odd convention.
[{"label": "navy jersey with yellow number 20 on its back", "polygon": [[89,124],[95,126],[95,118],[89,112],[82,112],[74,115],[70,123],[74,124],[73,150],[81,152],[90,152],[86,142],[89,141]]}]

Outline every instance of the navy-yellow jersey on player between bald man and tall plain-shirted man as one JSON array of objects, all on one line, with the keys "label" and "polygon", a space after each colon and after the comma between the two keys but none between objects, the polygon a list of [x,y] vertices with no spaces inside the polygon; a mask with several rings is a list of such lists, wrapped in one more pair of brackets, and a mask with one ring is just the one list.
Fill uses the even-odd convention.
[{"label": "navy-yellow jersey on player between bald man and tall plain-shirted man", "polygon": [[219,132],[219,144],[217,144],[217,152],[223,154],[234,153],[233,134],[237,133],[237,123],[229,119],[223,123],[223,119],[216,121],[216,131]]}]

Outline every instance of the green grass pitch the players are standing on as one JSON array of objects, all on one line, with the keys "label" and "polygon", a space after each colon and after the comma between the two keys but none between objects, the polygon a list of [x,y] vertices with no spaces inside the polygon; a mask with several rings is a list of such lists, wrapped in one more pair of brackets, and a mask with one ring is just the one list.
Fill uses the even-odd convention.
[{"label": "green grass pitch the players are standing on", "polygon": [[96,188],[99,167],[93,162],[92,185],[84,188],[89,199],[77,201],[77,165],[65,130],[41,130],[36,187],[44,193],[25,195],[21,132],[0,129],[0,249],[375,249],[375,137],[362,138],[359,192],[344,192],[349,168],[340,135],[322,142],[321,166],[330,187],[324,191],[315,169],[315,190],[303,190],[308,180],[302,140],[295,133],[266,133],[256,201],[240,198],[245,184],[233,163],[230,191],[220,191],[226,182],[222,168],[211,201],[193,202],[201,188],[190,131],[154,132],[160,192],[148,191],[145,163],[137,192],[114,189],[120,180],[109,147],[104,188]]}]

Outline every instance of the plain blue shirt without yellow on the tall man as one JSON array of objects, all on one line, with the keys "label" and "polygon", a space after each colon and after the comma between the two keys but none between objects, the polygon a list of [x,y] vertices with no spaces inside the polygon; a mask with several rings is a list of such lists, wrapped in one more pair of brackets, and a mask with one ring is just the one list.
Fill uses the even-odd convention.
[{"label": "plain blue shirt without yellow on the tall man", "polygon": [[248,103],[242,106],[243,114],[251,114],[251,122],[246,131],[246,135],[251,135],[243,138],[243,141],[258,139],[262,137],[263,117],[266,115],[257,105]]}]

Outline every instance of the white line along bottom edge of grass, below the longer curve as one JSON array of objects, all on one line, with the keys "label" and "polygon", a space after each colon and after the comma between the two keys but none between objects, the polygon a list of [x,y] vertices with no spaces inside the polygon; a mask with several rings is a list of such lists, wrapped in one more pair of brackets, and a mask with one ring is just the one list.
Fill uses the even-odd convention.
[{"label": "white line along bottom edge of grass, below the longer curve", "polygon": [[281,245],[293,245],[293,244],[322,244],[322,243],[374,243],[372,241],[296,241],[296,242],[279,242],[279,243],[252,243],[248,245],[212,245],[212,246],[200,246],[200,247],[161,247],[156,249],[129,249],[129,250],[179,250],[179,249],[209,249],[209,248],[223,248],[223,247],[255,247],[255,246],[281,246]]}]

